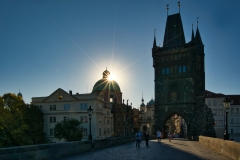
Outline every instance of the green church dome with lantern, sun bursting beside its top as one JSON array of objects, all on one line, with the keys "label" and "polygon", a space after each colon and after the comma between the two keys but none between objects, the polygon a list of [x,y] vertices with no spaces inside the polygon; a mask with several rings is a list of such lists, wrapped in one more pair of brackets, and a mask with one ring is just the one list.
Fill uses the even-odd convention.
[{"label": "green church dome with lantern, sun bursting beside its top", "polygon": [[103,78],[95,83],[93,86],[92,93],[101,92],[101,91],[118,91],[121,92],[121,89],[118,83],[114,80],[108,80],[110,72],[106,69],[103,72]]}]

